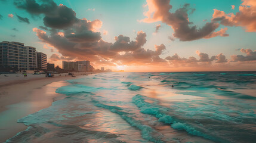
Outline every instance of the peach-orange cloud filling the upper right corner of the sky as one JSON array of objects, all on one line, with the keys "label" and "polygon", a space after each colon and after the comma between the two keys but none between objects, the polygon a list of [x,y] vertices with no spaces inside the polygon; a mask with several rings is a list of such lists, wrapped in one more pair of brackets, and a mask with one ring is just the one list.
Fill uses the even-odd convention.
[{"label": "peach-orange cloud filling the upper right corner of the sky", "polygon": [[256,32],[256,1],[242,0],[239,13],[226,14],[224,11],[214,9],[212,21],[219,21],[224,26],[241,26],[246,32]]}]

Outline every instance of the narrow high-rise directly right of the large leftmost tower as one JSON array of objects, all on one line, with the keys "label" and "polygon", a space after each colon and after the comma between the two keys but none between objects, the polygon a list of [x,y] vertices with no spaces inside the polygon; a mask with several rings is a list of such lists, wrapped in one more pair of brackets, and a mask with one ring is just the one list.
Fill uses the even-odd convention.
[{"label": "narrow high-rise directly right of the large leftmost tower", "polygon": [[37,69],[37,54],[36,54],[36,48],[32,46],[24,46],[27,51],[27,67],[29,70],[36,70]]}]

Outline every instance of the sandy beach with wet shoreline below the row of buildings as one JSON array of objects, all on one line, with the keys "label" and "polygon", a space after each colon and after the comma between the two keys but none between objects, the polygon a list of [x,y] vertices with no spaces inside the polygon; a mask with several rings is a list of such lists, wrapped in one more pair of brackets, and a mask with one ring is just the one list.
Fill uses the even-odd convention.
[{"label": "sandy beach with wet shoreline below the row of buildings", "polygon": [[[65,76],[67,73],[45,77],[44,74],[4,74],[0,75],[0,142],[5,142],[27,127],[17,120],[49,107],[53,101],[63,98],[55,93],[57,88],[68,85],[64,80],[84,77],[85,73],[75,73],[76,77]],[[91,73],[90,73],[91,74]]]}]

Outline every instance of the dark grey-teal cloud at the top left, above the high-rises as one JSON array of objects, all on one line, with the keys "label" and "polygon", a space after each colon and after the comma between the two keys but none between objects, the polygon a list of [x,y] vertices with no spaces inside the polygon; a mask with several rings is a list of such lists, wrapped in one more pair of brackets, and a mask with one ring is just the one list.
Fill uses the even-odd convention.
[{"label": "dark grey-teal cloud at the top left, above the high-rises", "polygon": [[26,10],[32,15],[44,14],[45,26],[54,29],[65,29],[79,21],[75,11],[65,5],[57,6],[53,0],[41,2],[42,4],[38,4],[35,0],[19,0],[15,1],[14,4],[17,8]]}]

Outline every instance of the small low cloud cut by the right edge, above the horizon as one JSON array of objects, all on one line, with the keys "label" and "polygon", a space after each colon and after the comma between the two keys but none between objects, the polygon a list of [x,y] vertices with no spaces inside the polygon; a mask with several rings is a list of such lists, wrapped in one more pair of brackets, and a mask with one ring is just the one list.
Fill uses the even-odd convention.
[{"label": "small low cloud cut by the right edge, above the horizon", "polygon": [[252,51],[251,49],[240,49],[241,52],[246,55],[232,55],[232,61],[255,61],[256,60],[256,50]]}]

